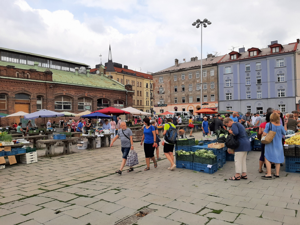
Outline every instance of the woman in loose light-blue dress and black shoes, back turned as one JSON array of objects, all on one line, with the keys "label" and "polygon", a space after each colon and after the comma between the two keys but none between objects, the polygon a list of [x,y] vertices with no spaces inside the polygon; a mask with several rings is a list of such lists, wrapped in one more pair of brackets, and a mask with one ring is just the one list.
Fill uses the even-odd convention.
[{"label": "woman in loose light-blue dress and black shoes, back turned", "polygon": [[[285,119],[286,120],[286,119]],[[272,113],[270,116],[270,122],[267,123],[266,128],[262,136],[266,136],[270,130],[275,131],[275,137],[273,138],[272,142],[265,145],[265,163],[267,166],[267,175],[262,176],[262,179],[273,179],[271,176],[271,163],[275,163],[276,172],[273,176],[279,178],[279,170],[280,170],[280,163],[284,162],[284,154],[283,154],[283,146],[281,142],[282,135],[286,134],[286,124],[287,121],[284,123],[284,127],[280,124],[280,117],[277,113]]]}]

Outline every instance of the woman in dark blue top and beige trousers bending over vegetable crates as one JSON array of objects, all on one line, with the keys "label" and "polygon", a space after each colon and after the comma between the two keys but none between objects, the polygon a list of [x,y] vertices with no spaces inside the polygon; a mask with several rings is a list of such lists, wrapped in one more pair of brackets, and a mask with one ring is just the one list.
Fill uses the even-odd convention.
[{"label": "woman in dark blue top and beige trousers bending over vegetable crates", "polygon": [[229,134],[235,135],[239,143],[239,146],[234,149],[235,176],[230,177],[229,180],[247,179],[246,156],[247,152],[251,151],[251,144],[246,130],[242,124],[234,122],[231,118],[225,118],[223,123],[230,127]]}]

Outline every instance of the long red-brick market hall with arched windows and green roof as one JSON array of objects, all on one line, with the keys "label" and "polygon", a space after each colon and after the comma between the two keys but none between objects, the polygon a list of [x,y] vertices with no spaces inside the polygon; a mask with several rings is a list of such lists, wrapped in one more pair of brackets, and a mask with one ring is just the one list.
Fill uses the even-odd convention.
[{"label": "long red-brick market hall with arched windows and green roof", "polygon": [[[124,107],[133,104],[131,85],[104,73],[90,74],[86,64],[5,48],[0,48],[0,56],[0,113],[40,109],[80,113],[115,102]],[[19,121],[2,118],[1,125],[11,122]]]}]

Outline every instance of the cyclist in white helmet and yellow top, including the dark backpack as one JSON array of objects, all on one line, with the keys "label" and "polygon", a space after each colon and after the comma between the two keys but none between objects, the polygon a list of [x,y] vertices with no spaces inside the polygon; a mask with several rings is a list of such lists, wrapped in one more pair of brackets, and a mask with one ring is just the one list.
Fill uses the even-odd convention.
[{"label": "cyclist in white helmet and yellow top, including the dark backpack", "polygon": [[166,120],[167,123],[165,124],[164,127],[164,133],[163,135],[165,136],[164,141],[163,141],[163,146],[164,146],[164,153],[166,158],[170,161],[171,166],[168,168],[169,170],[174,170],[176,167],[176,164],[174,163],[174,146],[175,143],[177,142],[177,130],[175,125],[172,123],[173,121],[173,116],[171,114],[166,115]]}]

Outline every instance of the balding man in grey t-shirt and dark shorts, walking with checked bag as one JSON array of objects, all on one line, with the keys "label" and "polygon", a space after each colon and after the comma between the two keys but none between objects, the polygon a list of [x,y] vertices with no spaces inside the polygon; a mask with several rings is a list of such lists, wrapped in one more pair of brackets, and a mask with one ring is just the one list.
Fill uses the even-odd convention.
[{"label": "balding man in grey t-shirt and dark shorts, walking with checked bag", "polygon": [[[132,140],[132,131],[129,128],[126,128],[126,122],[121,122],[120,129],[118,130],[118,134],[116,137],[114,137],[114,140],[112,140],[110,147],[113,146],[114,142],[121,138],[121,151],[122,151],[122,163],[119,170],[116,171],[118,174],[122,174],[122,169],[125,166],[127,155],[129,154],[130,150],[133,150],[133,140]],[[127,172],[133,171],[133,168],[130,167]]]}]

